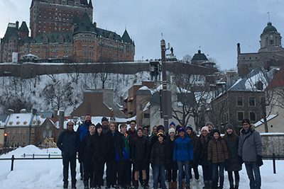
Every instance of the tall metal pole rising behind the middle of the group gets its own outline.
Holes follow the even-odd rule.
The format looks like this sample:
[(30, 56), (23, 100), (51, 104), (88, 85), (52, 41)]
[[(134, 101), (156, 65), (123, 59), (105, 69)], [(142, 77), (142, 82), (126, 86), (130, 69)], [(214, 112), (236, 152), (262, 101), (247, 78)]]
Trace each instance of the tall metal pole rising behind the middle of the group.
[(160, 41), (160, 52), (162, 57), (162, 84), (163, 84), (163, 92), (162, 92), (162, 107), (163, 107), (163, 120), (165, 132), (168, 132), (168, 98), (167, 98), (167, 73), (165, 70), (165, 40)]

